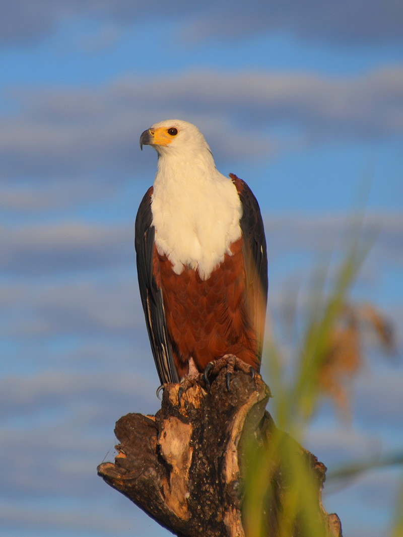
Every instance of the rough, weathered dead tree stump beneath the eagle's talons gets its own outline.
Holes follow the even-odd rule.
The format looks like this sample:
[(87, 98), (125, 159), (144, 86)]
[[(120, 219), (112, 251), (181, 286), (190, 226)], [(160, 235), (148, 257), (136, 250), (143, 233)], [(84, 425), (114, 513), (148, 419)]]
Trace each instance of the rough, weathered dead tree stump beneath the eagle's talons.
[[(235, 372), (228, 393), (225, 371), (208, 393), (198, 384), (189, 388), (180, 406), (178, 388), (167, 385), (155, 416), (132, 413), (119, 419), (118, 455), (114, 464), (99, 465), (98, 474), (179, 536), (247, 537), (242, 525), (247, 458), (242, 446), (250, 445), (250, 438), (256, 446), (270, 442), (276, 430), (265, 411), (270, 391), (260, 375), (251, 379)], [(284, 439), (293, 442), (317, 478), (316, 507), (327, 534), (341, 537), (339, 518), (328, 515), (321, 504), (326, 467), (286, 434)], [(271, 537), (277, 535), (286, 474), (287, 469), (278, 468), (270, 483), (264, 512)], [(298, 520), (291, 535), (304, 535)]]

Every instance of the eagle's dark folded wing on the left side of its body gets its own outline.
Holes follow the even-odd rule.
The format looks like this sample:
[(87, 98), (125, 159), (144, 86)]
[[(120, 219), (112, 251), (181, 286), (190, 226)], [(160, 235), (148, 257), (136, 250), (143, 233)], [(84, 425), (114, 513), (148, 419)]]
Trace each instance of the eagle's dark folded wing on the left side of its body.
[(134, 245), (136, 249), (137, 275), (139, 278), (141, 303), (146, 317), (148, 337), (161, 384), (179, 382), (165, 322), (162, 291), (157, 287), (153, 273), (155, 228), (151, 225), (150, 187), (143, 197), (135, 223)]

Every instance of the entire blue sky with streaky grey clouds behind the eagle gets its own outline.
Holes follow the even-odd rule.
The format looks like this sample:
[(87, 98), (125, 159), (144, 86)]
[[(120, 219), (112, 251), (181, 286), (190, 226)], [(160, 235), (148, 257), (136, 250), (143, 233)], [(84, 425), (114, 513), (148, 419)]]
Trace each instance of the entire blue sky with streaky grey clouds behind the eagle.
[[(219, 170), (251, 186), (276, 323), (287, 289), (339, 257), (365, 205), (378, 238), (352, 300), (401, 333), (403, 7), (0, 5), (0, 535), (167, 535), (96, 475), (113, 458), (114, 422), (158, 408), (133, 248), (156, 155), (139, 136), (163, 119), (194, 122)], [(372, 350), (350, 422), (325, 403), (307, 447), (329, 469), (401, 448), (402, 384), (401, 361)], [(345, 537), (387, 535), (398, 478), (325, 487)]]

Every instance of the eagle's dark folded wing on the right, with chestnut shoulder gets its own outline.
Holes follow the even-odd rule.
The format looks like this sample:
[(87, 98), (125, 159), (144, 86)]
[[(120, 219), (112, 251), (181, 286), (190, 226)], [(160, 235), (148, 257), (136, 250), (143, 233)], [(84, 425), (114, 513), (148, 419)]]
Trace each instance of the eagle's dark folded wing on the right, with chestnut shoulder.
[(253, 316), (258, 342), (258, 358), (262, 357), (264, 322), (267, 307), (268, 275), (267, 247), (259, 204), (249, 186), (234, 175), (233, 180), (242, 204), (240, 222), (243, 245), (242, 253), (246, 272), (247, 304)]

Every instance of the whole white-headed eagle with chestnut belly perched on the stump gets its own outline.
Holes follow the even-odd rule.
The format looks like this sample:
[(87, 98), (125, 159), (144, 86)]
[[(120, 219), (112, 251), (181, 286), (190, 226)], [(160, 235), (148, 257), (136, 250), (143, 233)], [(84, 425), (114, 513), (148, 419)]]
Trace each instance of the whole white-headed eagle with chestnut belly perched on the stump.
[(144, 145), (156, 149), (158, 164), (137, 213), (135, 248), (161, 383), (227, 362), (228, 375), (234, 366), (259, 371), (268, 278), (256, 198), (235, 175), (221, 175), (186, 121), (156, 123), (141, 134)]

